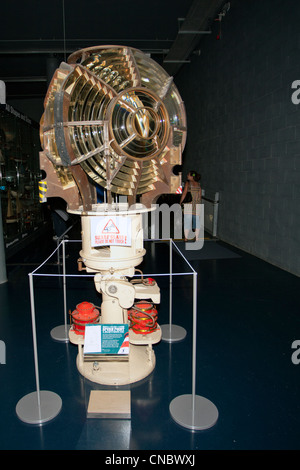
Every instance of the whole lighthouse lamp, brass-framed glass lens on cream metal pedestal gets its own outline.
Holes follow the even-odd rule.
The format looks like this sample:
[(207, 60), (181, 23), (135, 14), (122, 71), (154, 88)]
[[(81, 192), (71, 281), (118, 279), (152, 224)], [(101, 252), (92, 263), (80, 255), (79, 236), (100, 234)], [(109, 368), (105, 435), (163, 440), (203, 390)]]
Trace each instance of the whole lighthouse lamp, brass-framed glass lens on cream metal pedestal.
[[(102, 294), (99, 322), (129, 324), (126, 361), (88, 360), (84, 333), (71, 327), (70, 341), (79, 350), (77, 367), (101, 384), (141, 380), (155, 367), (152, 344), (160, 341), (161, 331), (152, 319), (151, 332), (133, 330), (128, 311), (141, 300), (158, 304), (160, 290), (155, 281), (130, 278), (145, 255), (143, 214), (153, 210), (161, 194), (175, 193), (181, 184), (180, 174), (173, 173), (181, 164), (186, 140), (185, 108), (178, 90), (172, 77), (137, 49), (83, 49), (54, 73), (40, 137), (40, 166), (47, 175), (41, 181), (46, 188), (43, 200), (62, 197), (68, 211), (81, 216), (79, 269), (95, 273), (95, 287)], [(105, 190), (103, 204), (97, 204), (97, 185)], [(116, 195), (127, 202), (116, 202)], [(109, 233), (109, 226), (118, 236)], [(124, 236), (119, 226), (125, 227)], [(143, 321), (148, 315), (144, 312), (147, 309)]]

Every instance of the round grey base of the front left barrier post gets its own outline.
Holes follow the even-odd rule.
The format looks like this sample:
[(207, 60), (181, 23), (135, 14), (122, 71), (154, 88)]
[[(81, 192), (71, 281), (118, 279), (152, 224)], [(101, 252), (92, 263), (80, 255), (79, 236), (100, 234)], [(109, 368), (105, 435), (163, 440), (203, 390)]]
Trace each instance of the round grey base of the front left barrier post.
[(18, 418), (28, 424), (43, 424), (55, 418), (61, 410), (62, 400), (54, 392), (32, 392), (25, 395), (16, 406)]

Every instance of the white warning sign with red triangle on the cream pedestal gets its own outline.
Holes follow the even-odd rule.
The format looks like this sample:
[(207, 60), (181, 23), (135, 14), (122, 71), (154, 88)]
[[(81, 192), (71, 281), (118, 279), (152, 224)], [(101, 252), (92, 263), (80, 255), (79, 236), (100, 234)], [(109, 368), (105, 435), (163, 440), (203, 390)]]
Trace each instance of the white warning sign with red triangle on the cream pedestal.
[(99, 215), (91, 218), (91, 245), (131, 245), (131, 218)]

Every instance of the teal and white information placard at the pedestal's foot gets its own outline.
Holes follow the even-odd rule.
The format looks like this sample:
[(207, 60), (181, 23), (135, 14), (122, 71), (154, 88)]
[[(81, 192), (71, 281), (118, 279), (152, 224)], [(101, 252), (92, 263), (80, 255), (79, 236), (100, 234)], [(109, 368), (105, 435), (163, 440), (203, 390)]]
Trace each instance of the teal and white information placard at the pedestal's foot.
[(129, 354), (129, 331), (126, 324), (98, 324), (85, 326), (83, 354)]

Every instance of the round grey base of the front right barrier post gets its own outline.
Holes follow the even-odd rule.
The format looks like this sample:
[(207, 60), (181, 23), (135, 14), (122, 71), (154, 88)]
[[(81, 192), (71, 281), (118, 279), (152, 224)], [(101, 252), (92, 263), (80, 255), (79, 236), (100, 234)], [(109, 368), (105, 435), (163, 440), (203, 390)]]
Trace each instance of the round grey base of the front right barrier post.
[(191, 430), (211, 428), (219, 417), (216, 406), (199, 395), (180, 395), (171, 401), (169, 410), (176, 423)]

